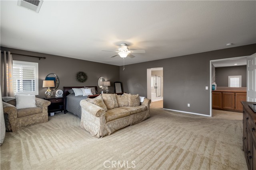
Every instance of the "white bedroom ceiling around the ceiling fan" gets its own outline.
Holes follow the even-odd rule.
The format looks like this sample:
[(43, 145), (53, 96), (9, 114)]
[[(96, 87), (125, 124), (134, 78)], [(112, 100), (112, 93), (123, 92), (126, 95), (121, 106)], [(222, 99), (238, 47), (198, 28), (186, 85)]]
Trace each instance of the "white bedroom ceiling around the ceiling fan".
[[(1, 46), (122, 65), (256, 43), (256, 1), (0, 1)], [(226, 46), (233, 43), (233, 46)]]

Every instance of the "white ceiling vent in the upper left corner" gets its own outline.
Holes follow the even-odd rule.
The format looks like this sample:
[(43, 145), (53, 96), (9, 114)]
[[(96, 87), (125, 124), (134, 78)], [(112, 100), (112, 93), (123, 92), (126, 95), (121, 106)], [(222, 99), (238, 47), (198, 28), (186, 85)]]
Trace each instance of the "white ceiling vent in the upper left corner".
[(18, 6), (22, 6), (37, 13), (41, 8), (42, 3), (42, 0), (18, 0)]

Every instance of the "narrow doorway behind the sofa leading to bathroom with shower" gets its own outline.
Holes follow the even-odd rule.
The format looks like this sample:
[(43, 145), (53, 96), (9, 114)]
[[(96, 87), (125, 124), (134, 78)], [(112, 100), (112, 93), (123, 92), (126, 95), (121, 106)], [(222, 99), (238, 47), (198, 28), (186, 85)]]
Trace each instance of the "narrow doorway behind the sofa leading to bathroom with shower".
[(153, 107), (163, 108), (163, 67), (147, 69), (147, 98)]

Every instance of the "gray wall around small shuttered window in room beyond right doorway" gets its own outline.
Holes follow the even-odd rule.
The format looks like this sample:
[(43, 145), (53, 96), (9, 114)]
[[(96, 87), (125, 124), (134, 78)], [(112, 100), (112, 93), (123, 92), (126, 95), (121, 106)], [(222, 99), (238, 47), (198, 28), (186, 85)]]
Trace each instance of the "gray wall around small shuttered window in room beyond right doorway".
[(246, 66), (216, 67), (217, 87), (228, 87), (228, 76), (242, 76), (242, 87), (246, 87)]

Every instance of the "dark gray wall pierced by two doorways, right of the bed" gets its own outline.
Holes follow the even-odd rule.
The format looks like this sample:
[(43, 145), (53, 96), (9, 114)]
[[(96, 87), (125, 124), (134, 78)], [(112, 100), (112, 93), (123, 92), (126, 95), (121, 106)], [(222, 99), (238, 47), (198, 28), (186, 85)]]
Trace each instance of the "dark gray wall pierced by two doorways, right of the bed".
[[(163, 67), (164, 108), (210, 115), (210, 60), (248, 56), (256, 44), (130, 64), (122, 70), (124, 92), (147, 95), (147, 68)], [(145, 54), (146, 55), (146, 54)], [(187, 104), (190, 107), (187, 107)]]

